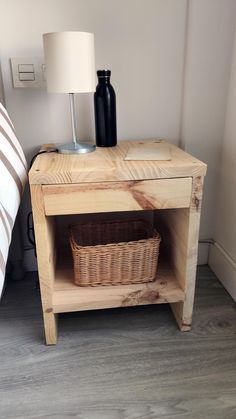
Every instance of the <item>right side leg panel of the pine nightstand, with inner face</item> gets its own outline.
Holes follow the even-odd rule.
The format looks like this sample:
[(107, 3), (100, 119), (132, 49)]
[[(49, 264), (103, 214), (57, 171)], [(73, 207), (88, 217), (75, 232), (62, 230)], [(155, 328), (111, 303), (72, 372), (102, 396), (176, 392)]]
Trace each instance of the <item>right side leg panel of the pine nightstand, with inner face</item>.
[(178, 282), (186, 293), (183, 303), (171, 305), (182, 331), (190, 330), (192, 324), (202, 190), (203, 178), (193, 178), (190, 208), (163, 211), (161, 215), (166, 228), (167, 252)]

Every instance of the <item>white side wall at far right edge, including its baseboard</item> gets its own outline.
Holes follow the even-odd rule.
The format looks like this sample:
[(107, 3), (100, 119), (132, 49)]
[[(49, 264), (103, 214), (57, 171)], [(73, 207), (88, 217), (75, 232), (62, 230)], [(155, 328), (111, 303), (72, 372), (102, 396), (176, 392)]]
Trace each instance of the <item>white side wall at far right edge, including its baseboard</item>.
[(236, 300), (236, 33), (215, 217), (215, 240), (210, 265)]

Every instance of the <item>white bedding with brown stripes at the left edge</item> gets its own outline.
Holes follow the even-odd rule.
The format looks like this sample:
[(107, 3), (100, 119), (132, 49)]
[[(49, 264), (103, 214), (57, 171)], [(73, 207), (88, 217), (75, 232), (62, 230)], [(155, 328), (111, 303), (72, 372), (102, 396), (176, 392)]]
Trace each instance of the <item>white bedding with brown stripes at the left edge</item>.
[(27, 179), (27, 163), (9, 115), (0, 103), (0, 297), (12, 228)]

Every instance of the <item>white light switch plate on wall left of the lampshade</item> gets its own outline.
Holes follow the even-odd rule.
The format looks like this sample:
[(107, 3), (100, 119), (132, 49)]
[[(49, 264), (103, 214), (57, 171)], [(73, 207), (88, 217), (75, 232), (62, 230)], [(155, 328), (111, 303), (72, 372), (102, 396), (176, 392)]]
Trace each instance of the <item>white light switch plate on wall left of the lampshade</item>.
[(11, 58), (11, 69), (15, 88), (46, 87), (43, 57), (13, 57)]

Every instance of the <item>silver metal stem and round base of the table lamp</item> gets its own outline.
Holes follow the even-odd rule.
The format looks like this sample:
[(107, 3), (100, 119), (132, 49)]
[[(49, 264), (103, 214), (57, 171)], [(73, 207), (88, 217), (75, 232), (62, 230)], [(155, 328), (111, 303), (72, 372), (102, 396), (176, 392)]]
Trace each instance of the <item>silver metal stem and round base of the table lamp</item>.
[(59, 144), (58, 152), (61, 154), (85, 154), (95, 151), (95, 144), (80, 144), (76, 139), (76, 119), (75, 119), (75, 102), (74, 93), (69, 93), (70, 98), (70, 112), (71, 112), (71, 126), (73, 142), (69, 144)]

